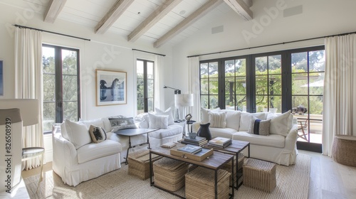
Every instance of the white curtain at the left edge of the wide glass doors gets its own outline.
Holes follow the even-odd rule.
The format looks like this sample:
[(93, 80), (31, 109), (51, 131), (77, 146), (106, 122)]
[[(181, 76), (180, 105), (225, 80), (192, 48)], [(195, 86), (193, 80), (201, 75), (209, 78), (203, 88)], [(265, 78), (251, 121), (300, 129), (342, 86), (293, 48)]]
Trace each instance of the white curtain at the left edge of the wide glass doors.
[(192, 113), (192, 120), (200, 121), (200, 68), (198, 56), (188, 58), (188, 68), (189, 93), (194, 95), (194, 107), (189, 107), (189, 112)]

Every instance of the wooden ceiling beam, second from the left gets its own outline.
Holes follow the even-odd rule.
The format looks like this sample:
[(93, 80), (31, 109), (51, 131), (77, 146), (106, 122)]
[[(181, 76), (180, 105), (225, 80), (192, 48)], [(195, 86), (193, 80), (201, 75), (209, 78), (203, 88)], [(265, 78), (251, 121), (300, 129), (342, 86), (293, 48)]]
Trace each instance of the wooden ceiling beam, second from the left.
[(107, 14), (95, 26), (95, 33), (105, 33), (117, 21), (134, 0), (117, 0)]

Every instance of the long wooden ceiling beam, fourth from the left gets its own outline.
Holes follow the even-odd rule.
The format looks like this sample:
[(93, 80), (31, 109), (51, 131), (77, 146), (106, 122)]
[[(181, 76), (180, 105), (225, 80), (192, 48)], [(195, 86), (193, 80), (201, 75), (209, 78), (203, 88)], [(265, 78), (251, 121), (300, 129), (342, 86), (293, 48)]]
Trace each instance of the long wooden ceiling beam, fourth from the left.
[(174, 28), (165, 33), (164, 36), (160, 37), (157, 41), (155, 41), (153, 46), (155, 48), (159, 48), (164, 43), (167, 43), (167, 41), (172, 39), (174, 36), (177, 36), (179, 33), (184, 31), (184, 29), (188, 28), (188, 26), (191, 26), (193, 23), (198, 21), (199, 18), (209, 13), (209, 11), (216, 8), (216, 6), (219, 6), (222, 2), (222, 0), (210, 0), (206, 2), (206, 4), (197, 9), (197, 11), (194, 11), (194, 13), (187, 16), (187, 18), (184, 18), (184, 20), (180, 22), (177, 26), (174, 26)]

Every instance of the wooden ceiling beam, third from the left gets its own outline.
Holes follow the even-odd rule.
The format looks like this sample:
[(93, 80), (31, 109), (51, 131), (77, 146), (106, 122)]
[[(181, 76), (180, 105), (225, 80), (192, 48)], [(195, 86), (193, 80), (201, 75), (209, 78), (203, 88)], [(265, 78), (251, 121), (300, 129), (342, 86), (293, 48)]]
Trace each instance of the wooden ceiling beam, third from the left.
[(159, 6), (150, 16), (148, 16), (145, 21), (135, 28), (129, 36), (127, 36), (127, 41), (136, 41), (137, 38), (140, 38), (143, 34), (145, 34), (152, 26), (161, 20), (164, 16), (166, 16), (175, 6), (177, 6), (182, 0), (167, 0), (162, 6)]

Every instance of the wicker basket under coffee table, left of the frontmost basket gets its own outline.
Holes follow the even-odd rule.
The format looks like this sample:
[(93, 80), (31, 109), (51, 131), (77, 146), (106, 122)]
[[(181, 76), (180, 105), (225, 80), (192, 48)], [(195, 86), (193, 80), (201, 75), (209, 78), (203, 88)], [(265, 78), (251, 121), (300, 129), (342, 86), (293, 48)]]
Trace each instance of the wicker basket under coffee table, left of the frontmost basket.
[(171, 158), (161, 158), (153, 163), (155, 185), (169, 191), (179, 190), (184, 186), (184, 175), (188, 164)]

